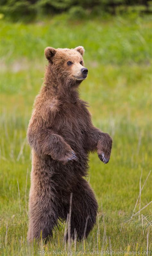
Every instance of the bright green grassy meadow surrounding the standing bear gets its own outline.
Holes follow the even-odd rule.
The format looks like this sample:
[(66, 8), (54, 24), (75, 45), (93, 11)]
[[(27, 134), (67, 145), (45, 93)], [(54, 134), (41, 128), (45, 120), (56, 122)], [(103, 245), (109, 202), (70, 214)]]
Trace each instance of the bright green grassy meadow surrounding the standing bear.
[[(0, 30), (2, 255), (68, 250), (63, 244), (64, 224), (46, 245), (27, 244), (31, 156), (26, 130), (47, 63), (44, 48), (79, 45), (86, 50), (89, 70), (80, 85), (81, 98), (90, 104), (94, 125), (108, 132), (114, 144), (108, 165), (97, 154), (90, 155), (87, 179), (99, 204), (97, 225), (86, 241), (72, 242), (71, 250), (73, 255), (75, 251), (150, 251), (151, 204), (145, 207), (151, 202), (150, 17), (70, 22), (62, 15), (34, 24), (1, 21)], [(145, 208), (121, 224), (131, 218), (143, 185), (134, 213)]]

